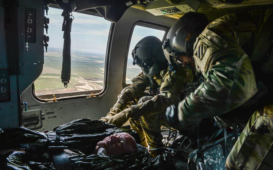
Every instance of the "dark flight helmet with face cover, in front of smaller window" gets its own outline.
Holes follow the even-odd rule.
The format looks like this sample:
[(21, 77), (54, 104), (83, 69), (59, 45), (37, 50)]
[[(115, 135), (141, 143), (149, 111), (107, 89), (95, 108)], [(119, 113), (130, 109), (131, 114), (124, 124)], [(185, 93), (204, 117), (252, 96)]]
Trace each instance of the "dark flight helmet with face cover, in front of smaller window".
[(146, 77), (153, 77), (168, 67), (162, 42), (154, 36), (141, 39), (132, 51), (132, 57), (133, 65), (140, 66)]

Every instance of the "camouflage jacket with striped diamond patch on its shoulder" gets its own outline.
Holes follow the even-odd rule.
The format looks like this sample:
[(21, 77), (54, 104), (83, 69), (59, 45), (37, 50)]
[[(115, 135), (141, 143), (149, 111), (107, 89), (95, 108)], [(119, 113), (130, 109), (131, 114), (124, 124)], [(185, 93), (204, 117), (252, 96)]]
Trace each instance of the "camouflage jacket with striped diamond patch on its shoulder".
[(214, 117), (220, 127), (227, 126), (219, 116), (244, 104), (257, 92), (250, 60), (238, 44), (237, 22), (235, 14), (223, 16), (196, 38), (193, 57), (205, 81), (179, 103), (182, 125)]

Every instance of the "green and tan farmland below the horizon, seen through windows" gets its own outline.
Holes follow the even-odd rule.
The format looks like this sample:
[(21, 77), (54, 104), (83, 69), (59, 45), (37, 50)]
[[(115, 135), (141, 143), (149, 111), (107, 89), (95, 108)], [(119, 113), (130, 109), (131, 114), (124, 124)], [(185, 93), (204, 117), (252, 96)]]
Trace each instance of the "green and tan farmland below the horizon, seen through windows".
[[(131, 64), (131, 59), (129, 63)], [(44, 69), (34, 82), (35, 94), (46, 95), (102, 89), (104, 86), (105, 56), (84, 51), (71, 51), (71, 79), (67, 88), (61, 82), (62, 49), (51, 47), (44, 55)], [(129, 66), (126, 83), (140, 72)]]

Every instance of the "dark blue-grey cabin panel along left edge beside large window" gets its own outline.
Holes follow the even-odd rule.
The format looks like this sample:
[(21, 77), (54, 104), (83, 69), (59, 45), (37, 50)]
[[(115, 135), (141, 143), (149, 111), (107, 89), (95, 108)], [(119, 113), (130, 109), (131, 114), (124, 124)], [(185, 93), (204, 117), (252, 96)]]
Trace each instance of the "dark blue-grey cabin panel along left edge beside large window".
[(0, 0), (0, 13), (0, 128), (18, 127), (22, 92), (43, 69), (44, 2)]

